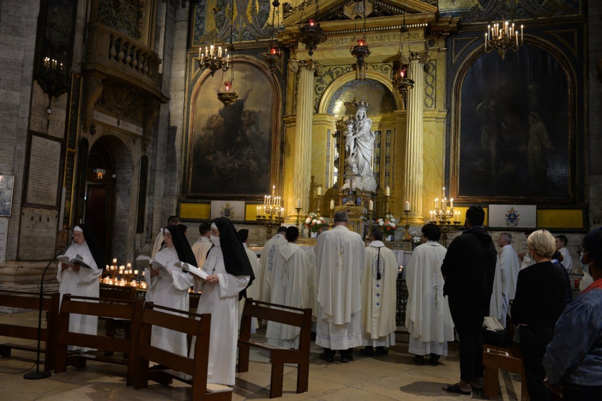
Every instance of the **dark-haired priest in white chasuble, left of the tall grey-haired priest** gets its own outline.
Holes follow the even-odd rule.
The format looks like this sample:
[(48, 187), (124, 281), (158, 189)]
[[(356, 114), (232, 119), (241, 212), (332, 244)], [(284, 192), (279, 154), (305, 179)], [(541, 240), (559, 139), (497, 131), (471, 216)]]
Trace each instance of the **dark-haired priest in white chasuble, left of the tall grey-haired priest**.
[[(297, 227), (287, 228), (287, 243), (278, 248), (276, 262), (272, 270), (272, 303), (310, 308), (309, 280), (311, 263), (305, 250), (296, 244), (299, 237)], [(268, 322), (265, 338), (269, 344), (285, 348), (299, 349), (300, 327)]]

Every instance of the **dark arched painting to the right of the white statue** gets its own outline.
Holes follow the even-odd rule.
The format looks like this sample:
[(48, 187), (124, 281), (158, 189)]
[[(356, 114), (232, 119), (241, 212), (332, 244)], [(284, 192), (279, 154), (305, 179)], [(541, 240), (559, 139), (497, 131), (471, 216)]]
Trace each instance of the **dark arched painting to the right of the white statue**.
[(536, 43), (467, 59), (452, 95), (456, 199), (571, 201), (575, 82), (563, 55)]

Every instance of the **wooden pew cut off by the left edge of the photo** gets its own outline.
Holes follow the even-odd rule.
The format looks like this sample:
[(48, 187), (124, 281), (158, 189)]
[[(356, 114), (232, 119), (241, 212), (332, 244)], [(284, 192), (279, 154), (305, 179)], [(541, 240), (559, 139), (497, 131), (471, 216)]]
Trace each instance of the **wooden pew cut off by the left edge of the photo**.
[[(56, 325), (58, 317), (59, 294), (44, 294), (42, 300), (42, 310), (46, 311), (46, 328), (40, 332), (40, 341), (45, 341), (45, 346), (40, 347), (40, 352), (46, 354), (44, 358), (44, 370), (50, 371), (54, 368), (55, 347), (56, 347)], [(10, 308), (34, 309), (40, 308), (40, 294), (28, 293), (22, 291), (0, 291), (0, 306)], [(27, 340), (38, 339), (37, 326), (19, 326), (0, 324), (0, 335), (5, 337), (24, 338)], [(31, 352), (37, 352), (37, 346), (23, 344), (0, 344), (0, 355), (10, 356), (11, 350), (19, 349)], [(50, 352), (46, 352), (49, 350)]]

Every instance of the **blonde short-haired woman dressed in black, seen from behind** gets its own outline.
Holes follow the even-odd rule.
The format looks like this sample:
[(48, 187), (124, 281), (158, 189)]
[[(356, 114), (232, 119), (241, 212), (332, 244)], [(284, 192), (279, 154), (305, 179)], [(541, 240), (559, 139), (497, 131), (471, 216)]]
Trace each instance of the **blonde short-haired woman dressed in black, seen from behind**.
[(554, 236), (547, 230), (527, 238), (527, 250), (535, 264), (518, 273), (517, 292), (512, 302), (512, 322), (521, 338), (527, 390), (531, 400), (552, 400), (544, 385), (545, 347), (554, 335), (554, 325), (565, 308), (566, 276), (552, 263)]

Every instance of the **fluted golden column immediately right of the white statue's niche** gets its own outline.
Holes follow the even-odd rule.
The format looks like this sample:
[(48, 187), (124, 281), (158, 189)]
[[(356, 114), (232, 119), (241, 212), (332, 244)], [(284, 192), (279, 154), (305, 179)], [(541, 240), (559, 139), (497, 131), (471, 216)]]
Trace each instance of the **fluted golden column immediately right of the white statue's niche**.
[(408, 78), (414, 80), (414, 89), (408, 90), (406, 111), (406, 154), (404, 173), (404, 199), (410, 202), (409, 223), (424, 223), (422, 210), (423, 190), (423, 111), (424, 111), (424, 64), (429, 61), (426, 53), (412, 53), (409, 57)]

